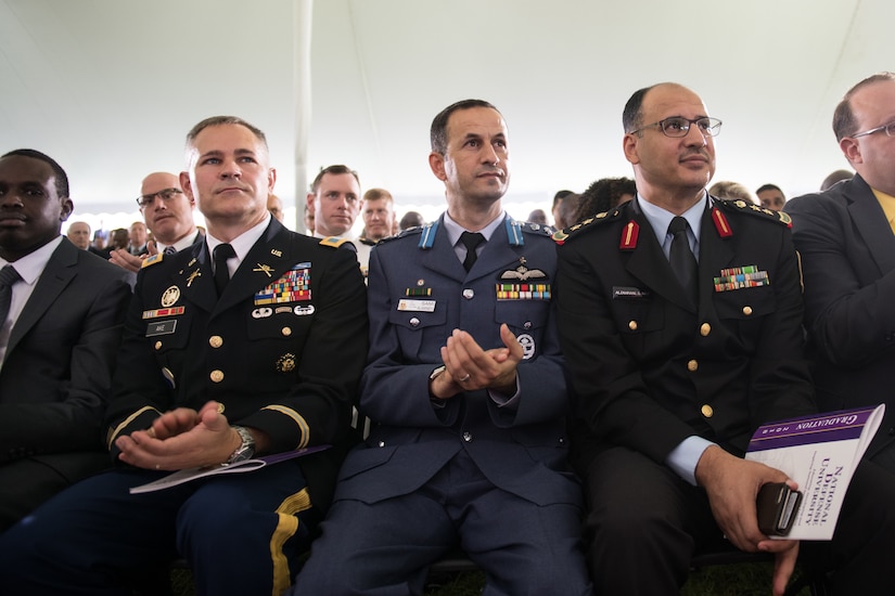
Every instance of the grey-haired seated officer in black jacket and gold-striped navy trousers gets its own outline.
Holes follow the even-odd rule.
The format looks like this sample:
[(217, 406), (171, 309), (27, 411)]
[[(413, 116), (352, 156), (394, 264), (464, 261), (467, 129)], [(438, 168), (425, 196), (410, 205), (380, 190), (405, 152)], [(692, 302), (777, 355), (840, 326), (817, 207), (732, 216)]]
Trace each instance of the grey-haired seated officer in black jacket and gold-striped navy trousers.
[[(138, 275), (106, 415), (119, 468), (0, 537), (13, 593), (123, 589), (129, 573), (182, 556), (200, 593), (280, 594), (329, 504), (367, 357), (355, 255), (272, 219), (276, 171), (254, 126), (203, 120), (188, 158), (180, 183), (207, 234)], [(323, 445), (334, 446), (128, 494), (170, 470)]]

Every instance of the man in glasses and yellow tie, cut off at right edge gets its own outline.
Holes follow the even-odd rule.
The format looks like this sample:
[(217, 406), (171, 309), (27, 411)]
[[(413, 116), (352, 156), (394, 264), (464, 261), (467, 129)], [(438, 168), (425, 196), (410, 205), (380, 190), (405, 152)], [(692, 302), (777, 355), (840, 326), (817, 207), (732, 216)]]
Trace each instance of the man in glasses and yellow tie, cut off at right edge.
[(895, 73), (853, 87), (833, 132), (854, 178), (787, 203), (805, 277), (805, 327), (821, 409), (885, 401), (867, 454), (895, 472)]

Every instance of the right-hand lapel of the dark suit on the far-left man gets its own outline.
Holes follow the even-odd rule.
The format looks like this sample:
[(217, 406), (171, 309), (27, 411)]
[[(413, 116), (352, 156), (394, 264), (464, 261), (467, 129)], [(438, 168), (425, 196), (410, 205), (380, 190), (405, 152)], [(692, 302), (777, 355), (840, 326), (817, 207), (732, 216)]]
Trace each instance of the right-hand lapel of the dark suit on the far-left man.
[(40, 321), (47, 309), (55, 302), (60, 294), (77, 275), (78, 250), (75, 245), (63, 238), (60, 245), (53, 250), (50, 260), (47, 261), (47, 267), (38, 277), (31, 296), (22, 313), (15, 322), (15, 325), (10, 333), (10, 340), (7, 345), (7, 353), (12, 352), (16, 345), (25, 337), (35, 323)]

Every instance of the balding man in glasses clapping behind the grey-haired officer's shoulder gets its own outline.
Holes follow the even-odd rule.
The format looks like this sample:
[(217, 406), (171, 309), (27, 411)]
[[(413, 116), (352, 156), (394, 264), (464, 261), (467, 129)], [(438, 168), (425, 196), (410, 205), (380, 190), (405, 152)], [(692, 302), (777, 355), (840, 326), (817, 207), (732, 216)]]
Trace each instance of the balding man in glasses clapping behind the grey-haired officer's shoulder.
[(143, 213), (146, 228), (154, 242), (148, 245), (148, 254), (135, 256), (127, 250), (113, 250), (110, 260), (128, 271), (137, 272), (148, 256), (172, 254), (202, 242), (193, 220), (195, 200), (180, 189), (180, 179), (169, 172), (153, 172), (143, 179), (137, 205)]

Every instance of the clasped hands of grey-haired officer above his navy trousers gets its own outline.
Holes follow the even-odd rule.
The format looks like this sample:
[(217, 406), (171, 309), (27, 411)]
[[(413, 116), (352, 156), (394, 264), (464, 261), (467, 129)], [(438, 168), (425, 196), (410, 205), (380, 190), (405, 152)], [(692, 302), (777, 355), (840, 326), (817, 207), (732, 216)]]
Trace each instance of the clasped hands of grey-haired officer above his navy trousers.
[(226, 462), (242, 440), (222, 411), (221, 404), (209, 401), (199, 412), (190, 407), (166, 412), (146, 430), (118, 437), (118, 458), (139, 468), (157, 470)]

